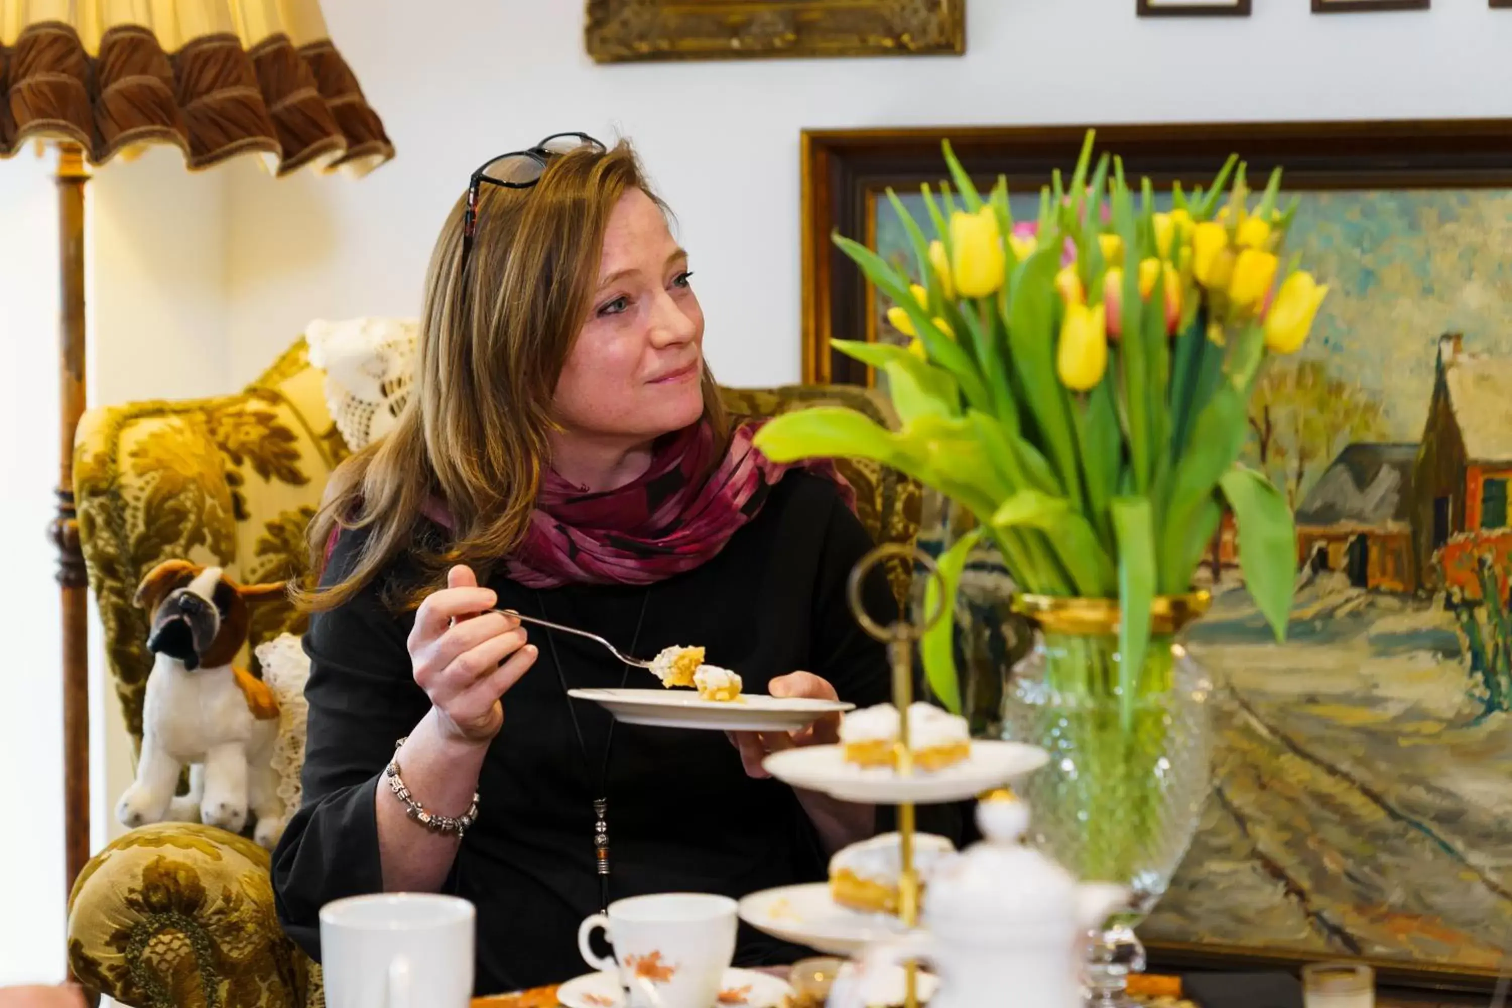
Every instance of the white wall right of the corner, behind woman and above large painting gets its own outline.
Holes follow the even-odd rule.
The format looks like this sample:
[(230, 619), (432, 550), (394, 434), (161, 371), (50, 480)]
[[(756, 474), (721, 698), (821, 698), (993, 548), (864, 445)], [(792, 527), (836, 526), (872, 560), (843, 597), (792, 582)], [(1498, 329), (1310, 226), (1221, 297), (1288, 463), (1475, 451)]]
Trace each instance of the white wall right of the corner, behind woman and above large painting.
[(715, 373), (756, 385), (800, 373), (801, 127), (1512, 113), (1512, 12), (1486, 0), (1334, 17), (1256, 0), (1247, 20), (1137, 20), (1134, 0), (972, 0), (963, 57), (635, 66), (588, 60), (581, 0), (322, 6), (399, 156), (351, 184), (233, 177), (237, 379), (310, 317), (416, 313), (469, 172), (556, 130), (637, 141), (682, 221)]

